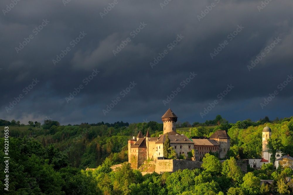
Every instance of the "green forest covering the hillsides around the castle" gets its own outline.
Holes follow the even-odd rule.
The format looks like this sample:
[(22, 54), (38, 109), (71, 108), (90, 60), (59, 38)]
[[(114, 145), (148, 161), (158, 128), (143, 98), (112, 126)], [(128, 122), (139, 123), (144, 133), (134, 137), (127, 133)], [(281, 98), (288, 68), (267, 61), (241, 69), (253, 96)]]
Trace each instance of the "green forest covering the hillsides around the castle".
[[(184, 124), (183, 124), (184, 123)], [(293, 117), (253, 122), (250, 119), (228, 123), (220, 115), (204, 124), (177, 122), (177, 132), (187, 137), (209, 137), (217, 130), (226, 130), (231, 137), (227, 160), (206, 154), (201, 169), (179, 170), (174, 173), (142, 175), (128, 163), (127, 141), (139, 130), (151, 137), (163, 132), (163, 124), (116, 122), (115, 125), (82, 123), (63, 126), (57, 121), (0, 120), (0, 157), (4, 159), (4, 126), (9, 127), (9, 173), (0, 167), (1, 186), (9, 175), (9, 191), (0, 194), (292, 194), (292, 167), (272, 164), (261, 169), (248, 166), (244, 173), (236, 165), (239, 159), (261, 158), (262, 130), (272, 130), (272, 152), (282, 151), (293, 156)], [(207, 124), (208, 123), (208, 124)], [(181, 131), (189, 126), (189, 131)], [(182, 127), (182, 128), (180, 128)], [(115, 172), (110, 168), (122, 163)], [(95, 170), (85, 170), (96, 168)], [(260, 185), (260, 180), (273, 180)]]

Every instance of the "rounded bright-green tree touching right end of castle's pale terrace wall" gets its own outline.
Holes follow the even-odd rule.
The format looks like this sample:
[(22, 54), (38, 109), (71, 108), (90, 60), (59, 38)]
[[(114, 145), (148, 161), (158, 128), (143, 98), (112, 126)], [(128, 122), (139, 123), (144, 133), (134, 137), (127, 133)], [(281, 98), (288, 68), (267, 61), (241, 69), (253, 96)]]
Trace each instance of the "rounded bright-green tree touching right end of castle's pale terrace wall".
[(206, 153), (205, 157), (202, 158), (202, 161), (202, 168), (213, 175), (219, 175), (222, 170), (222, 165), (217, 157)]

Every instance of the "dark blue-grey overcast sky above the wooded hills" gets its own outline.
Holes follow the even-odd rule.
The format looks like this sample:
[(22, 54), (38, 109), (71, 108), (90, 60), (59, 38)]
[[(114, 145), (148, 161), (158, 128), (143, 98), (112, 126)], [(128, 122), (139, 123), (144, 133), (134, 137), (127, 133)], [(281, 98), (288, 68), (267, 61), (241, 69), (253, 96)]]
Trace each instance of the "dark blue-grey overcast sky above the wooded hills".
[(161, 122), (170, 100), (191, 124), (292, 115), (293, 1), (14, 4), (0, 2), (1, 119)]

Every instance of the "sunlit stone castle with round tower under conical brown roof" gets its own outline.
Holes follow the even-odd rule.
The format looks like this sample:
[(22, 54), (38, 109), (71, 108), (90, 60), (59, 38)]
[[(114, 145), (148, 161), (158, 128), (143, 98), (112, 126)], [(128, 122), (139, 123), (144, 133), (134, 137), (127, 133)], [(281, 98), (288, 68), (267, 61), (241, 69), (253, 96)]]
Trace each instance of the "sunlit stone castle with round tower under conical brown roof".
[(192, 137), (189, 139), (184, 134), (176, 132), (177, 116), (169, 108), (162, 116), (163, 121), (163, 135), (159, 137), (151, 137), (149, 131), (146, 136), (139, 131), (137, 137), (128, 140), (128, 162), (131, 163), (132, 168), (137, 169), (144, 160), (163, 160), (164, 152), (163, 145), (166, 141), (166, 135), (170, 140), (170, 146), (174, 148), (178, 156), (188, 156), (188, 152), (194, 149), (196, 160), (202, 159), (206, 153), (218, 152), (219, 158), (224, 158), (230, 150), (230, 137), (226, 131), (217, 130), (209, 138), (207, 137)]

